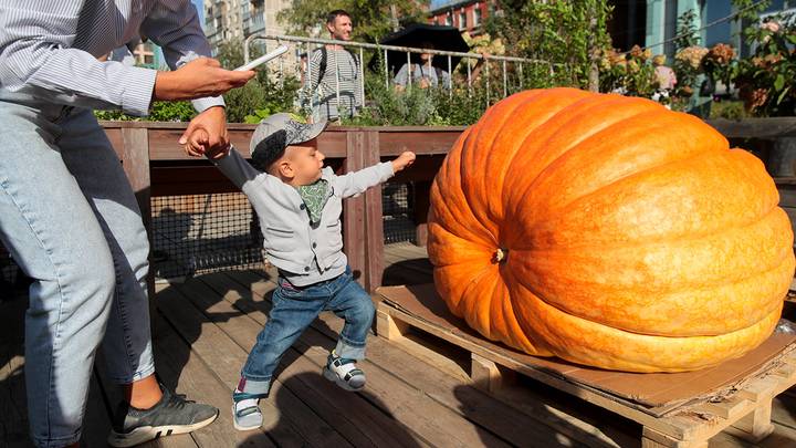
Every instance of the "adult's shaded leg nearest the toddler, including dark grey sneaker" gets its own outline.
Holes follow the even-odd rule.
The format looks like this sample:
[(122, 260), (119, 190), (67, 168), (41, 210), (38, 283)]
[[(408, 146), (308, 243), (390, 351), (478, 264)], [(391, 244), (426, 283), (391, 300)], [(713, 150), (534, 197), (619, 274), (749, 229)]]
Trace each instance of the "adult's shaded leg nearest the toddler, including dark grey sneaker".
[(108, 375), (123, 386), (127, 400), (117, 410), (108, 444), (133, 446), (207, 426), (218, 409), (161, 389), (155, 376), (146, 285), (149, 242), (118, 156), (87, 110), (75, 110), (64, 119), (64, 129), (59, 140), (64, 163), (88, 200), (113, 257), (116, 288), (103, 351)]

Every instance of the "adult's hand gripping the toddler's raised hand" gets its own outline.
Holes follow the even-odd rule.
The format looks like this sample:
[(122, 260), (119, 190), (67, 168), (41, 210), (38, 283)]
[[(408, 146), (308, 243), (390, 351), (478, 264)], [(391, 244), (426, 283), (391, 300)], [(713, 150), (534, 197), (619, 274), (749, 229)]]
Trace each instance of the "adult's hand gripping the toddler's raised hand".
[(227, 113), (221, 106), (206, 110), (191, 119), (179, 139), (186, 154), (219, 158), (229, 152)]

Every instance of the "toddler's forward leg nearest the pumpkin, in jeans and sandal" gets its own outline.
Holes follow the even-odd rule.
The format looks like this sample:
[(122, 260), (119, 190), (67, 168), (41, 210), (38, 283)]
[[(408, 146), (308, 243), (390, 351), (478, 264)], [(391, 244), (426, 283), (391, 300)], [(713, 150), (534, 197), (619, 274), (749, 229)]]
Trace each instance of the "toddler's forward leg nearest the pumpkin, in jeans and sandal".
[(350, 268), (332, 285), (334, 295), (327, 310), (345, 320), (337, 346), (329, 354), (323, 374), (346, 390), (365, 387), (365, 373), (357, 368), (356, 361), (365, 358), (365, 343), (373, 324), (375, 308), (370, 294), (357, 283)]

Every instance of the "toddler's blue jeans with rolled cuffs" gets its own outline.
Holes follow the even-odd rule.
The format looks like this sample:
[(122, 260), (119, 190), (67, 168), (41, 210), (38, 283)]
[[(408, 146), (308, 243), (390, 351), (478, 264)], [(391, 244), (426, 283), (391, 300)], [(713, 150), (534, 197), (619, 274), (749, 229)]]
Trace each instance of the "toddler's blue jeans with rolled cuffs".
[(335, 348), (337, 356), (365, 357), (365, 340), (375, 309), (370, 295), (354, 280), (350, 268), (335, 279), (303, 288), (280, 277), (271, 301), (269, 320), (241, 372), (241, 392), (266, 395), (280, 358), (322, 311), (333, 311), (345, 320)]

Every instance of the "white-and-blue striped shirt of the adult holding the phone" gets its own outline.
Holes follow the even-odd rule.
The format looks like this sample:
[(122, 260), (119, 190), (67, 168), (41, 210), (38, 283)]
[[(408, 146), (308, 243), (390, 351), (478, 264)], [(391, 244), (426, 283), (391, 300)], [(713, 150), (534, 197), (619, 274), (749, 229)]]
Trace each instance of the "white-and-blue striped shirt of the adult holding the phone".
[[(146, 115), (157, 72), (97, 60), (139, 35), (163, 48), (171, 70), (211, 55), (190, 0), (2, 0), (0, 88)], [(223, 100), (193, 101), (199, 112), (214, 105)]]

